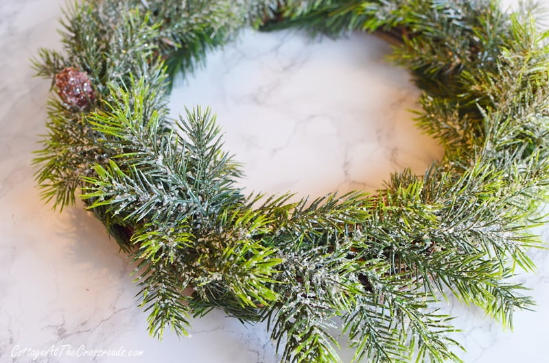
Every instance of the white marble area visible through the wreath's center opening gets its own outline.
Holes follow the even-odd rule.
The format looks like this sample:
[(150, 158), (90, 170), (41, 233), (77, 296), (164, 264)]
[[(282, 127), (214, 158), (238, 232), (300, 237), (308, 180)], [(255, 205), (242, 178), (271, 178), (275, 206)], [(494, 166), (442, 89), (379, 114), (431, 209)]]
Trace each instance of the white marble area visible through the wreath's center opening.
[(443, 149), (417, 129), (420, 91), (368, 34), (311, 40), (244, 32), (176, 81), (172, 117), (209, 106), (224, 149), (242, 164), (246, 193), (296, 197), (375, 191), (390, 173), (425, 173)]

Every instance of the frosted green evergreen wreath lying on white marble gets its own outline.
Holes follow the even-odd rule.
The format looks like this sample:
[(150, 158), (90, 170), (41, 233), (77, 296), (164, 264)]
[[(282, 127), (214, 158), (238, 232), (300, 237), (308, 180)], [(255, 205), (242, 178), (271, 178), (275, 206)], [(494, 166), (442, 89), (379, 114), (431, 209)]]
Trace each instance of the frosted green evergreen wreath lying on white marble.
[[(63, 208), (75, 193), (135, 270), (150, 334), (186, 335), (213, 308), (268, 321), (281, 360), (460, 361), (445, 292), (504, 326), (533, 304), (509, 277), (533, 271), (527, 230), (549, 180), (549, 49), (526, 10), (481, 0), (102, 0), (66, 11), (36, 179)], [(171, 79), (242, 27), (303, 27), (397, 40), (423, 90), (418, 122), (445, 155), (376, 194), (244, 195), (210, 110), (167, 119)], [(183, 290), (192, 287), (192, 295)]]

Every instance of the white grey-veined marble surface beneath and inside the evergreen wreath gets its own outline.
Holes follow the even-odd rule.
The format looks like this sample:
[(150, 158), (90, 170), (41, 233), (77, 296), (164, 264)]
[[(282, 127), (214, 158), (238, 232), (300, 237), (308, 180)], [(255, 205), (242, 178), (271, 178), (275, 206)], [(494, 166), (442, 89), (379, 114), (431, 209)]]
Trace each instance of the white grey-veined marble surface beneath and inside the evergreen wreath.
[[(220, 311), (192, 321), (191, 338), (149, 338), (130, 261), (102, 225), (82, 205), (59, 213), (40, 201), (30, 161), (50, 83), (32, 77), (29, 60), (38, 47), (60, 47), (62, 3), (0, 0), (0, 362), (277, 362), (264, 325)], [(365, 34), (312, 42), (245, 32), (180, 82), (172, 115), (211, 106), (248, 191), (374, 190), (391, 171), (422, 173), (442, 154), (414, 127), (419, 92), (384, 61), (389, 51)], [(549, 225), (537, 232), (549, 240)], [(513, 332), (452, 298), (441, 304), (464, 330), (455, 338), (465, 362), (549, 361), (548, 253), (531, 254), (539, 271), (517, 280), (533, 289), (537, 312), (518, 312)], [(90, 357), (97, 349), (125, 357)]]

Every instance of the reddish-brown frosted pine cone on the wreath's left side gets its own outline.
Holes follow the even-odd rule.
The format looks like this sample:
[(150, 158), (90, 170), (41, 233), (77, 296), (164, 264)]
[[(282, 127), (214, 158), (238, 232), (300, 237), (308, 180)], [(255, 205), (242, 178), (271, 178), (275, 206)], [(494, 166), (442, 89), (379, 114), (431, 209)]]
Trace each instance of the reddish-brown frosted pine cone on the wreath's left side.
[(95, 99), (95, 92), (87, 73), (72, 67), (67, 67), (56, 75), (56, 87), (63, 102), (80, 111), (88, 108)]

